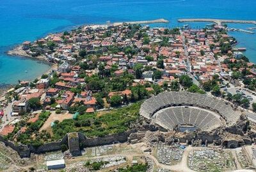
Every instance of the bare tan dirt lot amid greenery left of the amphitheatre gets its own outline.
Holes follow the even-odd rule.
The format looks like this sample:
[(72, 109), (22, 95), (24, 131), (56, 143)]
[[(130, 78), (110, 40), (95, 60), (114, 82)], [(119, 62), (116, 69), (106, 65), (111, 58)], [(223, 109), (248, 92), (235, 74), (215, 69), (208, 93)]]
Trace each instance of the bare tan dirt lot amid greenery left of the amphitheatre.
[(68, 113), (68, 111), (64, 111), (60, 114), (55, 113), (55, 111), (51, 111), (50, 117), (45, 121), (44, 125), (40, 128), (40, 132), (42, 130), (46, 130), (47, 132), (52, 134), (51, 130), (51, 123), (54, 122), (55, 120), (59, 120), (60, 122), (65, 120), (65, 119), (70, 119), (72, 118), (73, 115)]

